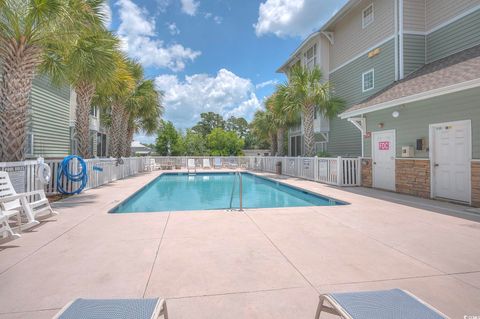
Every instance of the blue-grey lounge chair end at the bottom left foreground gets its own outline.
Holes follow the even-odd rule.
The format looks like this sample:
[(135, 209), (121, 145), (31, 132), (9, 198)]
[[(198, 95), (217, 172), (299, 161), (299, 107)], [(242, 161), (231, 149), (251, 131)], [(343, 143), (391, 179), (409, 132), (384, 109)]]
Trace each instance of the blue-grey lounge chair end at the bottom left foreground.
[(168, 319), (164, 299), (76, 299), (53, 319)]

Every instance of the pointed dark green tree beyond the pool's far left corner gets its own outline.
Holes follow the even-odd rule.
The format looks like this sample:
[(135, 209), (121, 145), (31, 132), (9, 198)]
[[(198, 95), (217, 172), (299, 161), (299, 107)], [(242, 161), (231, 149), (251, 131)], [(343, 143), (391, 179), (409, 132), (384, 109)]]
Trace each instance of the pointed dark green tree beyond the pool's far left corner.
[(161, 121), (155, 149), (161, 156), (184, 155), (182, 136), (172, 122)]

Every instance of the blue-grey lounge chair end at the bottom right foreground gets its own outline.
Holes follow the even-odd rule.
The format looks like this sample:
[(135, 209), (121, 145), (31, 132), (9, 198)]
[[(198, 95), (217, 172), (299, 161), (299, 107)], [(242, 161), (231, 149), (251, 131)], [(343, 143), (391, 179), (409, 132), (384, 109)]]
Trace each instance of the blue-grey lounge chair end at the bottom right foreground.
[(319, 319), (322, 312), (344, 319), (448, 318), (425, 301), (401, 289), (321, 295), (315, 319)]

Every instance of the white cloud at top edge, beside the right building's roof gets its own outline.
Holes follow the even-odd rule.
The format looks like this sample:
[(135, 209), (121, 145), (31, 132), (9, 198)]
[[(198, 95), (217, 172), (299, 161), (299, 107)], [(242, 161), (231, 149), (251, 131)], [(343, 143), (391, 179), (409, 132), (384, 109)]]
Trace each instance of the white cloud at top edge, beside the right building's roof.
[(345, 0), (266, 0), (260, 4), (257, 36), (273, 33), (278, 37), (305, 37), (318, 29)]

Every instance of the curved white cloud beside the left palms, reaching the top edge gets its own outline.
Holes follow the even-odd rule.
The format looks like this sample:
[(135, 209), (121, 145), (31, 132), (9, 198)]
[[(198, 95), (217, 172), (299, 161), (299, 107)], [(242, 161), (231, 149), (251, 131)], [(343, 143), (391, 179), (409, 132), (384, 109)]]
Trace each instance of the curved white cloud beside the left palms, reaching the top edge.
[(155, 19), (131, 0), (118, 0), (120, 26), (118, 36), (122, 49), (146, 67), (169, 68), (181, 71), (187, 62), (194, 61), (201, 52), (181, 44), (166, 46), (155, 34)]

